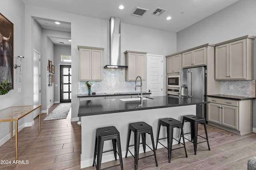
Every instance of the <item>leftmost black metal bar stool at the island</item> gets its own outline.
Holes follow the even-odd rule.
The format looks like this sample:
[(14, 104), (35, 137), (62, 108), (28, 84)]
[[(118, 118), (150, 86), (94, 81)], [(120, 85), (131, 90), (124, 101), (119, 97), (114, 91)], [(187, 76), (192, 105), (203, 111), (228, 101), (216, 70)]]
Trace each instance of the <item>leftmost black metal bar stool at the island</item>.
[[(103, 145), (104, 141), (112, 140), (113, 150), (107, 150), (104, 152), (114, 151), (115, 160), (116, 153), (118, 153), (120, 164), (115, 166), (121, 166), (121, 170), (124, 169), (123, 161), (122, 161), (122, 150), (121, 150), (121, 143), (120, 143), (120, 134), (119, 131), (114, 126), (110, 127), (103, 127), (96, 130), (96, 141), (95, 141), (95, 148), (94, 148), (94, 160), (92, 166), (96, 164), (96, 155), (97, 155), (97, 164), (96, 169), (100, 170), (101, 160), (102, 160), (102, 153), (103, 152)], [(118, 152), (116, 151), (116, 145), (118, 148)], [(112, 166), (114, 167), (114, 166)], [(110, 168), (110, 167), (109, 167)], [(106, 168), (105, 168), (106, 169)]]

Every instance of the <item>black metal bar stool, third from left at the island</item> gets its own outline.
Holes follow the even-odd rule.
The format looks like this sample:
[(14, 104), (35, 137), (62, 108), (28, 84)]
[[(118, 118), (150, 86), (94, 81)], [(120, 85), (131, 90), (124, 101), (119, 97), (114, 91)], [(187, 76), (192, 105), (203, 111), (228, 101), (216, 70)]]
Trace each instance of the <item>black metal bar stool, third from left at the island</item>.
[[(165, 126), (167, 128), (167, 137), (159, 139), (159, 133), (160, 133), (161, 125)], [(183, 139), (183, 143), (182, 143), (183, 147), (179, 147), (179, 148), (176, 148), (176, 149), (184, 148), (185, 149), (185, 153), (186, 153), (186, 157), (188, 157), (188, 154), (187, 154), (187, 151), (186, 151), (186, 146), (185, 146), (185, 141), (184, 141), (183, 128), (182, 128), (181, 121), (178, 121), (178, 120), (173, 119), (173, 118), (159, 119), (158, 120), (158, 131), (157, 131), (156, 149), (157, 149), (157, 144), (160, 143), (159, 140), (167, 139), (167, 148), (162, 143), (160, 143), (160, 144), (163, 147), (165, 147), (166, 149), (168, 149), (169, 163), (171, 162), (172, 150), (175, 150), (175, 149), (172, 149), (172, 139), (174, 139), (173, 138), (173, 128), (174, 127), (177, 127), (177, 128), (181, 129), (181, 134), (182, 134), (182, 139)], [(174, 139), (174, 140), (176, 140), (176, 139)], [(179, 142), (179, 144), (180, 144), (180, 141), (178, 141), (178, 140), (176, 140), (176, 141)]]

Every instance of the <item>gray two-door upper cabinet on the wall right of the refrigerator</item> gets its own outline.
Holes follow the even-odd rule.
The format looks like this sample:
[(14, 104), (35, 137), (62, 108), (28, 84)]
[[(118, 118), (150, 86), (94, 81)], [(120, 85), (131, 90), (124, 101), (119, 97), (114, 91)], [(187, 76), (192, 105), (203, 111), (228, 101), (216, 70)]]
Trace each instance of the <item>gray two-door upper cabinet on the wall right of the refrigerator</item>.
[(253, 80), (253, 39), (247, 35), (215, 47), (215, 80)]

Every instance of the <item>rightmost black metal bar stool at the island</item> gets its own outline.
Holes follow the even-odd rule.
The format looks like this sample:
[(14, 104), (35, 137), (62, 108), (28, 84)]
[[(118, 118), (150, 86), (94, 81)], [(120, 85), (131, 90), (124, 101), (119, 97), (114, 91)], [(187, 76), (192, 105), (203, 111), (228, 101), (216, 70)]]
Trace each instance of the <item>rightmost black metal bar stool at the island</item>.
[[(194, 143), (194, 152), (195, 152), (195, 154), (196, 154), (198, 143), (207, 142), (208, 149), (211, 150), (210, 145), (209, 145), (208, 135), (207, 135), (205, 118), (200, 117), (200, 116), (196, 116), (196, 115), (186, 115), (186, 116), (183, 116), (182, 125), (184, 125), (184, 122), (190, 122), (190, 132), (189, 133), (191, 133), (191, 140), (189, 140), (189, 139), (187, 139), (187, 140)], [(198, 124), (199, 123), (204, 124), (204, 131), (205, 131), (206, 138), (198, 135)], [(189, 134), (189, 133), (184, 133), (184, 135)], [(197, 136), (200, 136), (200, 137), (206, 139), (206, 141), (197, 142)], [(181, 137), (181, 134), (180, 134), (180, 137)], [(180, 141), (179, 141), (179, 143), (180, 143)]]

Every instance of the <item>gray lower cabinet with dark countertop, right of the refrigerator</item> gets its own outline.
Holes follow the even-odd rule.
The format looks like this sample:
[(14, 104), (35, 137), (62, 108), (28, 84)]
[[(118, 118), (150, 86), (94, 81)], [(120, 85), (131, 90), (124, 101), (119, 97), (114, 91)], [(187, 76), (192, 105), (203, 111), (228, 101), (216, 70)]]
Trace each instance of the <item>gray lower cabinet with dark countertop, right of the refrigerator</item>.
[(252, 132), (252, 100), (208, 98), (208, 124), (244, 135)]

